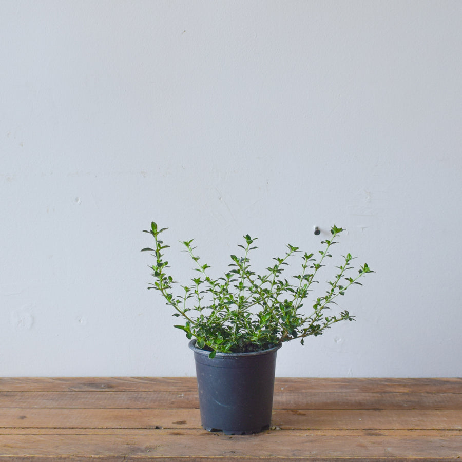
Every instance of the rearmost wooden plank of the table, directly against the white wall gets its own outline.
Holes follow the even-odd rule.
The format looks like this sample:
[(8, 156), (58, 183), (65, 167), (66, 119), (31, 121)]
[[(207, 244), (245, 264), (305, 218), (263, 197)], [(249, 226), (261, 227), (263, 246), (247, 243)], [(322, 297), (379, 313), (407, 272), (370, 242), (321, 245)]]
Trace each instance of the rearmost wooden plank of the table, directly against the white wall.
[[(462, 393), (462, 378), (276, 377), (276, 390), (351, 393)], [(0, 391), (194, 391), (196, 377), (0, 377)]]

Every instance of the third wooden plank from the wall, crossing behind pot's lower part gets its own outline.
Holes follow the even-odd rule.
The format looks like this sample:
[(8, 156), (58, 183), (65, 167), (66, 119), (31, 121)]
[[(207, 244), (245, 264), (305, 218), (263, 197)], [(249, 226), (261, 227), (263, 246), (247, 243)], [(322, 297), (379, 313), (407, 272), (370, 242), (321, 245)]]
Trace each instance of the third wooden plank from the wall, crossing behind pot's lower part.
[[(0, 409), (3, 428), (200, 428), (195, 409)], [(275, 410), (283, 429), (455, 429), (462, 411)]]

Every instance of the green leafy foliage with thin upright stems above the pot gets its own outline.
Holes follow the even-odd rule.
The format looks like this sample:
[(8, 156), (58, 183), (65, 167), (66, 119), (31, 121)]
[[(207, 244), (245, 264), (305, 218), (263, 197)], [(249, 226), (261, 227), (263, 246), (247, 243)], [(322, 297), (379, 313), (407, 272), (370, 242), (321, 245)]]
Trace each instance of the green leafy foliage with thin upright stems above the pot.
[[(336, 266), (336, 275), (328, 281), (327, 290), (314, 300), (309, 314), (303, 305), (317, 282), (318, 271), (332, 258), (331, 247), (343, 231), (331, 228), (331, 239), (322, 241), (324, 248), (315, 254), (301, 253), (298, 247), (287, 244), (282, 257), (274, 258), (274, 263), (266, 268), (263, 275), (252, 271), (249, 253), (256, 249), (255, 241), (248, 234), (245, 243), (239, 245), (243, 256), (231, 255), (232, 263), (228, 271), (217, 279), (208, 276), (208, 264), (199, 263), (192, 240), (182, 242), (185, 251), (195, 262), (197, 277), (188, 285), (181, 285), (182, 293), (174, 293), (176, 281), (168, 274), (168, 261), (164, 259), (165, 245), (160, 235), (167, 228), (159, 228), (155, 222), (145, 230), (155, 239), (154, 248), (144, 248), (142, 252), (152, 252), (155, 264), (151, 267), (154, 282), (148, 288), (159, 291), (166, 303), (174, 310), (173, 316), (182, 320), (175, 325), (183, 330), (188, 339), (195, 338), (198, 348), (215, 353), (259, 351), (271, 348), (280, 342), (321, 335), (326, 329), (340, 321), (353, 321), (348, 311), (332, 314), (333, 304), (339, 296), (345, 295), (352, 285), (362, 285), (358, 279), (373, 273), (367, 263), (359, 267), (358, 273), (350, 276), (354, 269), (351, 254), (342, 256), (342, 264)], [(301, 253), (299, 274), (286, 279), (284, 269), (292, 257)]]

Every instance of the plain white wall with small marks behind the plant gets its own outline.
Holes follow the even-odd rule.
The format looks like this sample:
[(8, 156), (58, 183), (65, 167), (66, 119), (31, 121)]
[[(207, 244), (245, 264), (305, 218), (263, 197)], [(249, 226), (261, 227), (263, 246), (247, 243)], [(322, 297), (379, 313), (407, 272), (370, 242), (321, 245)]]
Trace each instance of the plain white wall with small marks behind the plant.
[(460, 375), (462, 2), (0, 7), (0, 375), (194, 375), (151, 220), (180, 278), (348, 229), (357, 321), (277, 375)]

